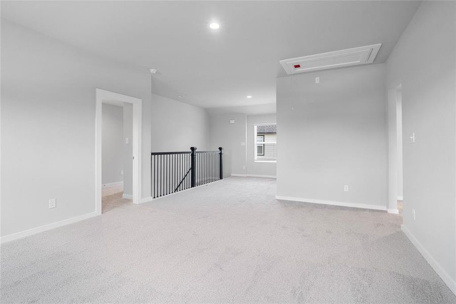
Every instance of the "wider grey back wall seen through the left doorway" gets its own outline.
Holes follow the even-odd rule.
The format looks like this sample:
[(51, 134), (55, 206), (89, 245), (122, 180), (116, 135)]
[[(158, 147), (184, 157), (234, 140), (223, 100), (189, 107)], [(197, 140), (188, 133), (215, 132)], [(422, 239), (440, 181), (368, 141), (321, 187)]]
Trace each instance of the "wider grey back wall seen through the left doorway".
[(102, 105), (101, 183), (123, 181), (123, 107)]

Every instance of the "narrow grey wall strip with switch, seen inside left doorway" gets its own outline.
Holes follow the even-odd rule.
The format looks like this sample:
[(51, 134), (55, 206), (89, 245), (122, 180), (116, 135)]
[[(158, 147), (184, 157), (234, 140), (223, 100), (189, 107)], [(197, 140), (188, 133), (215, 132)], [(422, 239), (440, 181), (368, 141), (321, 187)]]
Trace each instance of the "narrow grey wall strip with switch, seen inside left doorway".
[(128, 102), (123, 103), (122, 140), (123, 194), (133, 196), (133, 104)]

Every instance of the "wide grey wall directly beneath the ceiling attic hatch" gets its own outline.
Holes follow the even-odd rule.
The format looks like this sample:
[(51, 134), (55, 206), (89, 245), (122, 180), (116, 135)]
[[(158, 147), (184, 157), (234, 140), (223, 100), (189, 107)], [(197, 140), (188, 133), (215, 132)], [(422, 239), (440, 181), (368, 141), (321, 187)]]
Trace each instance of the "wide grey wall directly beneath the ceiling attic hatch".
[(384, 64), (277, 79), (278, 197), (386, 209), (384, 79)]

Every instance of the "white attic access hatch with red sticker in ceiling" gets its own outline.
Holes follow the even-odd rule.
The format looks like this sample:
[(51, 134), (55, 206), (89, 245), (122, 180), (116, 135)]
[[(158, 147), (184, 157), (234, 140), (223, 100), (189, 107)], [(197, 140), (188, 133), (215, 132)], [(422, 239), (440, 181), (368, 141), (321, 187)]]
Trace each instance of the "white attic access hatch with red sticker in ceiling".
[(346, 49), (334, 52), (283, 59), (280, 64), (287, 74), (297, 74), (323, 69), (367, 64), (374, 62), (381, 43), (365, 47)]

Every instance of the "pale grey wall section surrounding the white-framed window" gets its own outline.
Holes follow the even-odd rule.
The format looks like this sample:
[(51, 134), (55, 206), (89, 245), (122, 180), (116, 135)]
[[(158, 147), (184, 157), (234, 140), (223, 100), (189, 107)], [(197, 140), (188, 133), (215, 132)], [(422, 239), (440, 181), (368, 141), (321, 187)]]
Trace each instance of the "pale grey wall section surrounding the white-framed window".
[[(271, 115), (247, 116), (247, 174), (276, 176), (275, 162), (255, 161), (255, 124), (276, 123), (277, 117)], [(278, 135), (277, 135), (278, 136)]]

